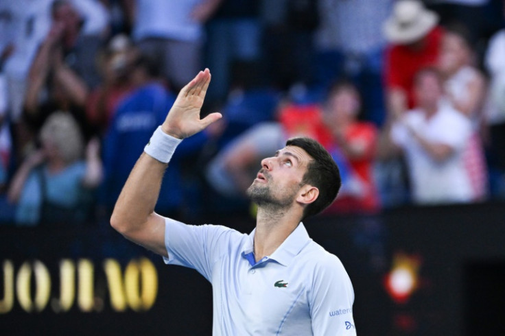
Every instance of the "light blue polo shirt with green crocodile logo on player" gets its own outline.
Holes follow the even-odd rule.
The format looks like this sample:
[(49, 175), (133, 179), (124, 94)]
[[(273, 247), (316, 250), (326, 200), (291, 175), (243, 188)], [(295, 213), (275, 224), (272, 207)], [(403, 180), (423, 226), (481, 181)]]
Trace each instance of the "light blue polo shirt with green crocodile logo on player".
[(258, 263), (254, 236), (165, 219), (165, 263), (212, 284), (213, 335), (356, 335), (351, 280), (303, 223)]

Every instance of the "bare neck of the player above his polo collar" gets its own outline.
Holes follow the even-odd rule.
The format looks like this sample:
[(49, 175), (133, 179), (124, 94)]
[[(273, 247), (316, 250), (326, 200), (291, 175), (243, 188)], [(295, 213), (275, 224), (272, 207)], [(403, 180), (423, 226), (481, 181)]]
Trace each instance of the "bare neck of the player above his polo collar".
[(300, 223), (301, 215), (293, 208), (260, 206), (256, 219), (255, 259), (272, 254)]

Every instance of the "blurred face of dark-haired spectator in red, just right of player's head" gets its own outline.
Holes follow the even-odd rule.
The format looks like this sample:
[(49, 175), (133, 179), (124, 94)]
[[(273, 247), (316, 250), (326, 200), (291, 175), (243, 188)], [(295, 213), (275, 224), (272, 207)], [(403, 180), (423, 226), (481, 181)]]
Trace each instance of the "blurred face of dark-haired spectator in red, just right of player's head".
[(331, 123), (354, 120), (361, 104), (357, 92), (351, 86), (343, 86), (331, 94), (327, 103), (327, 117)]

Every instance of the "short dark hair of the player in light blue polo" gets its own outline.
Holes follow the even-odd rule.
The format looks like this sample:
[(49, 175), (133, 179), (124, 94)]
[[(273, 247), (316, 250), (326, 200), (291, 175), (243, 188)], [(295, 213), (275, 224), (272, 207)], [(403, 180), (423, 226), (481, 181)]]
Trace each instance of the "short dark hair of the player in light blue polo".
[(338, 165), (325, 147), (322, 147), (314, 139), (307, 137), (292, 138), (286, 141), (286, 146), (300, 147), (312, 158), (303, 176), (302, 184), (310, 184), (318, 188), (319, 196), (314, 202), (307, 205), (305, 211), (303, 211), (302, 219), (317, 215), (335, 200), (340, 190), (342, 180), (340, 179)]

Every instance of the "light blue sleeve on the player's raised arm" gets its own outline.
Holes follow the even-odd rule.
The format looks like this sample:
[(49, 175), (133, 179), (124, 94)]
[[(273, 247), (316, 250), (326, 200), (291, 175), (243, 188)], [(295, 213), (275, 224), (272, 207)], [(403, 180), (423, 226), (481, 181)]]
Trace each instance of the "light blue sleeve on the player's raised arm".
[(212, 265), (226, 250), (231, 233), (225, 226), (193, 226), (174, 219), (165, 219), (165, 248), (169, 265), (196, 269), (207, 280), (212, 278)]

